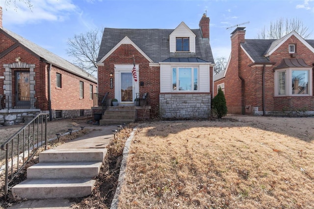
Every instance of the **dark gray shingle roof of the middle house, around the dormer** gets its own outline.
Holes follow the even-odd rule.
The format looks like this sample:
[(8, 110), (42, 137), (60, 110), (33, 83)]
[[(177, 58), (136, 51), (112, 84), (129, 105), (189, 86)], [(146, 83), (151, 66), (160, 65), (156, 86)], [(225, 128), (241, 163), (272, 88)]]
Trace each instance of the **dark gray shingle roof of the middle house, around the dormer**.
[(100, 61), (114, 46), (128, 36), (155, 63), (168, 58), (199, 58), (214, 63), (209, 39), (203, 39), (200, 29), (192, 29), (196, 34), (196, 53), (170, 53), (169, 34), (173, 29), (117, 29), (105, 28), (97, 61)]

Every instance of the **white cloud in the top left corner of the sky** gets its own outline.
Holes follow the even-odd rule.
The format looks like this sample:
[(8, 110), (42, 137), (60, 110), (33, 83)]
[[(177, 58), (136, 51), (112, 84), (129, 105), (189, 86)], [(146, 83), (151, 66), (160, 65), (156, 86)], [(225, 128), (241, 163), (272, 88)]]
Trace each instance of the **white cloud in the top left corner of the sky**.
[[(40, 21), (64, 21), (77, 7), (71, 0), (32, 0), (31, 9), (23, 1), (16, 1), (15, 5), (1, 5), (3, 10), (3, 23), (25, 24)], [(3, 3), (1, 3), (3, 4)]]

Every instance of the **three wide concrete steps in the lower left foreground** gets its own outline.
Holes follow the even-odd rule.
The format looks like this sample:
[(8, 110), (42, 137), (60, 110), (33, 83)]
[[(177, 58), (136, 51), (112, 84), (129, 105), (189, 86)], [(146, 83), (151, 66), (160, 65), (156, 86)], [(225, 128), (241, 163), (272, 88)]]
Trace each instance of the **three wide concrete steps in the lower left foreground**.
[(106, 149), (50, 149), (27, 168), (27, 180), (12, 187), (22, 199), (76, 198), (91, 194)]

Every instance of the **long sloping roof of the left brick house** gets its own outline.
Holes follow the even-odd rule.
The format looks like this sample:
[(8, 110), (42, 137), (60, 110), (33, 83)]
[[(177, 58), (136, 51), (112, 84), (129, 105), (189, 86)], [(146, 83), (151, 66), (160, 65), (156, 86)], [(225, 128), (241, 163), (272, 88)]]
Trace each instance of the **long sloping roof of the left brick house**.
[(86, 78), (90, 81), (97, 83), (97, 78), (94, 77), (92, 74), (87, 73), (86, 71), (78, 68), (76, 65), (66, 61), (65, 59), (53, 54), (51, 51), (48, 51), (47, 49), (38, 46), (34, 44), (31, 41), (28, 41), (24, 37), (13, 33), (12, 31), (9, 31), (7, 29), (3, 28), (3, 31), (6, 32), (8, 35), (16, 39), (20, 44), (28, 48), (30, 51), (32, 51), (34, 54), (37, 54), (39, 57), (44, 58), (49, 63), (51, 63), (54, 66), (57, 66), (63, 70), (67, 70), (69, 72), (72, 72), (80, 77)]

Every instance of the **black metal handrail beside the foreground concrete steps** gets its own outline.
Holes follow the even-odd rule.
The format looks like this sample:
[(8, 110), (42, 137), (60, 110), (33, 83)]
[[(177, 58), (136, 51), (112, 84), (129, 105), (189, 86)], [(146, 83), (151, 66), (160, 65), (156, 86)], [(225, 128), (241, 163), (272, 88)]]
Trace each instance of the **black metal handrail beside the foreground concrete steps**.
[(34, 116), (33, 119), (1, 145), (1, 150), (5, 151), (5, 199), (7, 198), (8, 184), (19, 174), (25, 164), (32, 159), (38, 148), (45, 146), (45, 150), (47, 150), (48, 118), (49, 114), (43, 113)]

